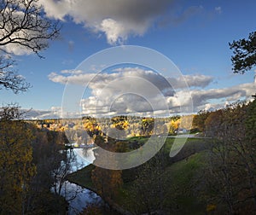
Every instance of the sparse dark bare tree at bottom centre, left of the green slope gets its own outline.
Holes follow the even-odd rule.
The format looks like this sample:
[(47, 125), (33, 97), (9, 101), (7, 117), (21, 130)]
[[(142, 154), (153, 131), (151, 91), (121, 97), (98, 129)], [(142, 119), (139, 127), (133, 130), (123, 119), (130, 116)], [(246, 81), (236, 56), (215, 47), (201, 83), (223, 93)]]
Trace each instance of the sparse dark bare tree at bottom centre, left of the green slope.
[[(158, 137), (157, 137), (158, 138)], [(155, 139), (157, 150), (160, 140)], [(166, 167), (165, 148), (162, 147), (153, 158), (137, 168), (136, 180), (132, 183), (131, 201), (135, 214), (169, 214), (164, 208), (166, 198), (166, 182), (164, 170)]]

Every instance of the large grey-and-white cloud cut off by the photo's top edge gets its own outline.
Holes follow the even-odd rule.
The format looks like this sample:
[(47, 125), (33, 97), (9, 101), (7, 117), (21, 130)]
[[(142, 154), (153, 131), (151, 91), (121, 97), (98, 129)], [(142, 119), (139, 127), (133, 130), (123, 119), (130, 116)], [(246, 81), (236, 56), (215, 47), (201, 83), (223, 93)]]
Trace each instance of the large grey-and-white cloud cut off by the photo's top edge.
[(66, 20), (93, 32), (103, 32), (109, 44), (122, 44), (129, 35), (143, 35), (172, 6), (172, 0), (40, 0), (51, 18)]

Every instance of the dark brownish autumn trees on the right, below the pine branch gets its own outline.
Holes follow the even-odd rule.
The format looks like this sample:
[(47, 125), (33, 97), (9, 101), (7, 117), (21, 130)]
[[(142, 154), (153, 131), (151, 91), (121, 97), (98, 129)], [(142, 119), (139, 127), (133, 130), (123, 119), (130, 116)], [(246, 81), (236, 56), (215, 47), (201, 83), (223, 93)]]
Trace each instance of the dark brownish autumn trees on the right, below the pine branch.
[(206, 120), (207, 136), (216, 140), (209, 154), (209, 182), (218, 203), (225, 203), (230, 213), (256, 208), (255, 110), (255, 101), (237, 103)]

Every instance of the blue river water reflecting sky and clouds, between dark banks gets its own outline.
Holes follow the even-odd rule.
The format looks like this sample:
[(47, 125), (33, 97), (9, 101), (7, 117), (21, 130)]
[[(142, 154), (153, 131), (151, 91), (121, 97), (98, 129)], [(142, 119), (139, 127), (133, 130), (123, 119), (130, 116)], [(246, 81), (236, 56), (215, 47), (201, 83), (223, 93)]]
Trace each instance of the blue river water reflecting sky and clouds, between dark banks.
[[(74, 148), (73, 153), (75, 154), (75, 159), (72, 162), (70, 173), (90, 165), (95, 159), (93, 148)], [(99, 204), (102, 202), (101, 197), (96, 193), (68, 181), (62, 186), (61, 195), (69, 203), (68, 214), (70, 215), (79, 214), (90, 203)]]

